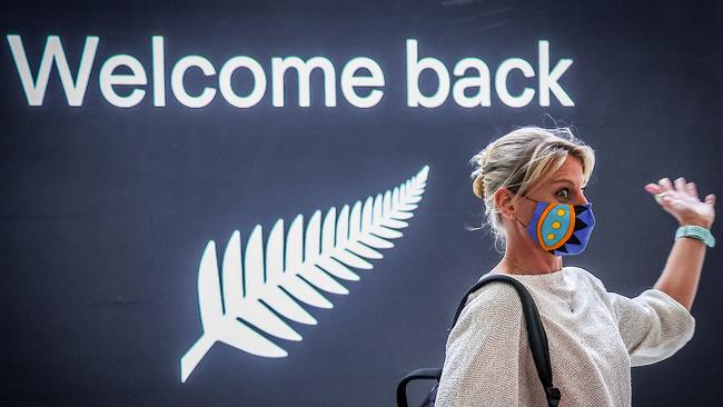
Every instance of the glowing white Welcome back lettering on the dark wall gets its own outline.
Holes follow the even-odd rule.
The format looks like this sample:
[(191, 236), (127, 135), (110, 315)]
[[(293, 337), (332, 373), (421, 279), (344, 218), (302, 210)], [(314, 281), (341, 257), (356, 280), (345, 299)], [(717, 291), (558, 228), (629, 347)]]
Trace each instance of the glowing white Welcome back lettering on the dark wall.
[[(86, 38), (77, 75), (71, 73), (66, 52), (58, 36), (48, 36), (44, 50), (40, 59), (40, 66), (33, 76), (22, 38), (18, 34), (7, 36), (10, 52), (24, 91), (29, 106), (42, 106), (50, 80), (52, 67), (56, 67), (60, 83), (65, 91), (68, 106), (82, 106), (88, 89), (90, 72), (93, 69), (96, 51), (100, 42), (99, 37), (89, 36)], [(574, 101), (559, 85), (559, 80), (572, 66), (572, 59), (561, 59), (551, 68), (549, 42), (541, 40), (537, 42), (538, 59), (537, 70), (533, 63), (523, 58), (508, 58), (503, 61), (494, 72), (494, 77), (487, 63), (478, 58), (463, 58), (456, 62), (450, 78), (449, 70), (439, 59), (434, 57), (420, 57), (418, 41), (406, 40), (406, 100), (408, 107), (436, 108), (442, 106), (449, 98), (464, 108), (477, 108), (492, 106), (492, 91), (503, 105), (513, 108), (529, 106), (538, 96), (538, 105), (551, 106), (551, 96), (565, 107), (575, 106)], [(98, 73), (98, 86), (103, 98), (112, 106), (119, 108), (131, 108), (138, 106), (146, 98), (148, 90), (152, 90), (152, 103), (155, 107), (166, 106), (166, 52), (164, 37), (151, 38), (151, 63), (150, 72), (152, 87), (146, 89), (149, 79), (143, 64), (139, 59), (130, 54), (113, 54), (106, 59), (100, 66)], [(122, 68), (130, 73), (119, 73)], [(234, 72), (238, 70), (248, 71), (252, 78), (251, 90), (247, 95), (238, 95), (231, 87)], [(270, 68), (270, 91), (271, 106), (284, 107), (286, 89), (284, 78), (287, 72), (295, 71), (298, 80), (298, 106), (310, 106), (310, 76), (311, 71), (320, 70), (323, 73), (324, 105), (326, 107), (337, 106), (337, 73), (331, 61), (321, 56), (304, 60), (299, 57), (274, 57)], [(419, 76), (423, 71), (433, 72), (437, 79), (437, 89), (430, 95), (423, 95), (419, 89)], [(360, 71), (368, 72), (363, 75)], [(218, 87), (205, 87), (199, 93), (191, 95), (184, 86), (186, 76), (217, 77)], [(518, 95), (513, 95), (507, 87), (509, 77), (516, 76), (525, 82), (524, 89)], [(529, 83), (531, 78), (537, 78), (536, 83)], [(454, 80), (454, 85), (452, 83)], [(227, 103), (247, 109), (258, 105), (266, 95), (268, 88), (267, 70), (256, 59), (249, 56), (235, 56), (221, 64), (217, 71), (216, 66), (207, 58), (191, 54), (180, 58), (170, 69), (170, 90), (175, 99), (188, 108), (204, 108), (220, 92), (221, 99)], [(528, 85), (533, 85), (532, 87)], [(536, 87), (534, 86), (536, 85)], [(356, 57), (350, 59), (341, 69), (339, 86), (344, 100), (357, 108), (373, 108), (384, 97), (385, 76), (384, 71), (374, 59), (368, 57)], [(119, 93), (122, 88), (122, 95)], [(364, 89), (359, 95), (358, 88)], [(130, 90), (130, 91), (128, 91)], [(465, 95), (471, 90), (471, 96)]]

